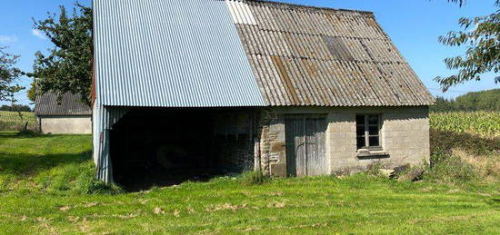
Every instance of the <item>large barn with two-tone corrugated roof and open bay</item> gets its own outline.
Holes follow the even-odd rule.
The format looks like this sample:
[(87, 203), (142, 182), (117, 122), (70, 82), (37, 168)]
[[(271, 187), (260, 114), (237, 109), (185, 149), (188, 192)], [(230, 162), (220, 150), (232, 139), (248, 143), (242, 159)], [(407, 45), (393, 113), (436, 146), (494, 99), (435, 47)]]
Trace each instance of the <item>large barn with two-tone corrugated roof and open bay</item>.
[(118, 183), (429, 159), (434, 98), (370, 12), (94, 1), (94, 158)]

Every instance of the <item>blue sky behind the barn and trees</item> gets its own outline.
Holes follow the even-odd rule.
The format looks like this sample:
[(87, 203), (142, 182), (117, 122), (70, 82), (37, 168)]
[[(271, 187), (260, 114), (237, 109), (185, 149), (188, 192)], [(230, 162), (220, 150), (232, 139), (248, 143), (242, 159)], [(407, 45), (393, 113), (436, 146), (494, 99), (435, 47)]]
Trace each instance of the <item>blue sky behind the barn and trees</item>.
[[(443, 59), (463, 54), (464, 48), (447, 47), (437, 42), (437, 37), (449, 30), (458, 30), (457, 20), (462, 17), (488, 15), (495, 11), (494, 0), (469, 0), (462, 8), (445, 0), (278, 0), (301, 5), (315, 5), (333, 8), (365, 10), (375, 13), (377, 21), (389, 34), (395, 45), (405, 56), (415, 72), (424, 81), (431, 93), (455, 97), (462, 93), (499, 88), (493, 77), (484, 75), (480, 82), (469, 82), (441, 93), (439, 85), (433, 81), (436, 75), (452, 74), (445, 68)], [(81, 3), (90, 5), (89, 0)], [(68, 9), (73, 1), (55, 0), (3, 0), (0, 9), (0, 45), (9, 46), (8, 52), (20, 54), (17, 64), (30, 72), (35, 60), (35, 52), (46, 52), (52, 45), (39, 32), (33, 30), (33, 20), (45, 19), (47, 12), (58, 12), (58, 5)], [(29, 87), (31, 80), (23, 77), (21, 84)], [(16, 95), (19, 103), (30, 103), (26, 91)]]

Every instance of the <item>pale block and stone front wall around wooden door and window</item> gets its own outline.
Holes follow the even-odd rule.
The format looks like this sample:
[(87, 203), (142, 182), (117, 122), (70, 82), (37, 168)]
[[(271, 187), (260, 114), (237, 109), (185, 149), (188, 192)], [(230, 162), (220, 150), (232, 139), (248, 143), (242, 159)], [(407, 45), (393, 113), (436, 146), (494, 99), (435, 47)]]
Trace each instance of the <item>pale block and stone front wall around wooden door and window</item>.
[[(374, 162), (394, 167), (429, 161), (427, 107), (275, 108), (261, 113), (260, 167), (265, 174), (286, 174), (285, 115), (296, 113), (326, 114), (325, 157), (331, 173), (361, 171)], [(388, 153), (388, 157), (383, 157), (384, 154), (358, 156), (355, 141), (355, 115), (358, 113), (381, 115), (381, 153)]]

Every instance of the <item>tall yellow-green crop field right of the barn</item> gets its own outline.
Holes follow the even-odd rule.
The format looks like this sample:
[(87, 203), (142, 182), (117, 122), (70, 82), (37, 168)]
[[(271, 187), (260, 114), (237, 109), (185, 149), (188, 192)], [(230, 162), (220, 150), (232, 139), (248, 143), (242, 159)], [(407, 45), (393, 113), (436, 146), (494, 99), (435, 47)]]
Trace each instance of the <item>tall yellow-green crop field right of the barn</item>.
[(500, 136), (500, 112), (431, 113), (430, 123), (431, 129), (438, 131)]

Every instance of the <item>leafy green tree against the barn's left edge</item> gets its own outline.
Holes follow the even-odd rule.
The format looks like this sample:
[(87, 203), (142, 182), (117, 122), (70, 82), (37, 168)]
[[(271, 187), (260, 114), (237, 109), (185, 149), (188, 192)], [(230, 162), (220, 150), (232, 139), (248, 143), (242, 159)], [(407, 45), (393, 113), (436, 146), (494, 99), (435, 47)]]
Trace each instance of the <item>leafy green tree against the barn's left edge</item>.
[(37, 93), (82, 94), (82, 102), (91, 103), (92, 71), (92, 8), (75, 4), (68, 16), (64, 6), (60, 14), (49, 14), (43, 21), (35, 21), (35, 29), (43, 32), (55, 45), (50, 54), (35, 54), (34, 72)]

